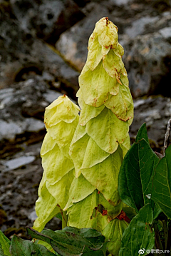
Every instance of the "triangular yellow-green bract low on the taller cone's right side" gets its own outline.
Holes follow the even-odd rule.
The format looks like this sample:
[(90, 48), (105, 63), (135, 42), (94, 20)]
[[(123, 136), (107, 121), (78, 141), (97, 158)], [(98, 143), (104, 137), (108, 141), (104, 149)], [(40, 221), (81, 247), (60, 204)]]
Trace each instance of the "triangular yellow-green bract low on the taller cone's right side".
[(81, 170), (86, 180), (95, 186), (112, 205), (120, 203), (118, 174), (122, 159), (122, 150), (118, 148), (115, 153), (108, 156), (102, 163)]

